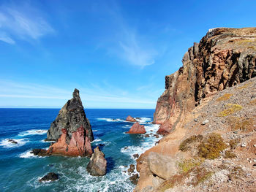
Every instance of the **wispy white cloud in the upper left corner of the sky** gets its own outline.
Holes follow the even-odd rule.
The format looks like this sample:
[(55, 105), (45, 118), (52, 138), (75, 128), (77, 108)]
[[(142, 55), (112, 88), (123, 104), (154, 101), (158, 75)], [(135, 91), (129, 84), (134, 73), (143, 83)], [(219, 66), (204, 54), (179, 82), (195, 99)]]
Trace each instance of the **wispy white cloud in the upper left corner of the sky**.
[(3, 42), (15, 44), (15, 39), (39, 39), (53, 32), (41, 12), (29, 4), (0, 7), (0, 40)]

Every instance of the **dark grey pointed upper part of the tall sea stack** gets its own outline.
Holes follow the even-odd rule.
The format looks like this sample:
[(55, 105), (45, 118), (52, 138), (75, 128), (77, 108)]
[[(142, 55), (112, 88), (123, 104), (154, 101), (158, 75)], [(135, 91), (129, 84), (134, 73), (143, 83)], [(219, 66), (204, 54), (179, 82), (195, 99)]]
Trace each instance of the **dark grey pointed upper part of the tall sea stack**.
[(86, 129), (88, 132), (88, 138), (93, 141), (94, 136), (91, 131), (91, 125), (86, 118), (86, 113), (83, 110), (83, 104), (79, 96), (78, 89), (75, 88), (73, 92), (73, 98), (67, 101), (67, 103), (59, 111), (59, 115), (50, 124), (50, 129), (47, 132), (47, 139), (58, 141), (62, 134), (61, 129), (66, 129), (70, 141), (72, 133), (77, 131), (80, 126)]

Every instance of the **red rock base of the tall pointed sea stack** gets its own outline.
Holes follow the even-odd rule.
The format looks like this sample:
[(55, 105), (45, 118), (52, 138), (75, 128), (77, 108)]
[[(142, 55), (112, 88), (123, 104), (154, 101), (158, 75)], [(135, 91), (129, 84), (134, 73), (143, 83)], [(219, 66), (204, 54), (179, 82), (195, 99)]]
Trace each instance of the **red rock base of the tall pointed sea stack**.
[[(67, 143), (67, 130), (62, 128), (61, 131), (62, 134), (58, 142), (49, 147), (47, 151), (49, 155), (89, 156), (92, 154), (91, 141), (87, 137), (88, 132), (83, 126), (72, 133), (69, 143)], [(86, 137), (84, 137), (85, 133)]]

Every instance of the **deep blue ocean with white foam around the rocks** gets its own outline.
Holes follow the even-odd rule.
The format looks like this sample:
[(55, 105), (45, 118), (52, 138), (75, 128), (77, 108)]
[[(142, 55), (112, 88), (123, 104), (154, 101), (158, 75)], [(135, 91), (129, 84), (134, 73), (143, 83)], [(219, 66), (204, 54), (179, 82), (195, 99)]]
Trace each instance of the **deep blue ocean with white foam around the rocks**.
[[(88, 174), (86, 157), (37, 157), (29, 153), (34, 148), (49, 147), (44, 139), (59, 110), (0, 109), (0, 191), (133, 191), (135, 185), (124, 171), (135, 164), (133, 154), (143, 153), (158, 140), (153, 134), (159, 126), (151, 124), (154, 110), (85, 110), (94, 133), (92, 147), (105, 145), (100, 147), (108, 161), (103, 177)], [(125, 121), (128, 115), (140, 118), (147, 134), (153, 134), (125, 134), (133, 124)], [(39, 183), (48, 172), (59, 174), (59, 180)]]

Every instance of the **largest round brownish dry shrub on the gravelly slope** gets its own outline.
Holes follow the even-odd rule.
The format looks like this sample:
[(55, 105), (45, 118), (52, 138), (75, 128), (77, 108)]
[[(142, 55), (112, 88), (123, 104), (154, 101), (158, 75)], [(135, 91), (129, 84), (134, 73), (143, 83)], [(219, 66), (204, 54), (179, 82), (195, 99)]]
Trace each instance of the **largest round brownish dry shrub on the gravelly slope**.
[(201, 158), (214, 159), (218, 158), (220, 152), (225, 150), (226, 147), (227, 145), (225, 144), (220, 134), (212, 133), (209, 134), (208, 137), (200, 143), (200, 145), (197, 147), (197, 150), (198, 155)]

